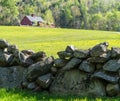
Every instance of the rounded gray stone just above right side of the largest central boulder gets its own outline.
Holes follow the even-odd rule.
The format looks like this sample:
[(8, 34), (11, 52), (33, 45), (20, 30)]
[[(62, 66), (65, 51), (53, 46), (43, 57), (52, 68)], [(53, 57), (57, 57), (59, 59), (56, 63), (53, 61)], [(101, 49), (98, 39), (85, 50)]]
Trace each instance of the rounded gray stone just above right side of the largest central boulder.
[(80, 64), (79, 69), (84, 72), (93, 73), (95, 71), (95, 65), (85, 60)]

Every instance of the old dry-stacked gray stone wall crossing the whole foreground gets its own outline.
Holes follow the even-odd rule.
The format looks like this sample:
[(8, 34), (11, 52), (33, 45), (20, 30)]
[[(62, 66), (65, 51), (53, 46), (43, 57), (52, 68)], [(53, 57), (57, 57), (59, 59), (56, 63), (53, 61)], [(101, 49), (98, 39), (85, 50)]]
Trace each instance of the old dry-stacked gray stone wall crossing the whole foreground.
[(0, 87), (81, 96), (120, 95), (120, 48), (67, 46), (57, 59), (0, 39)]

